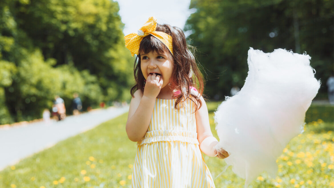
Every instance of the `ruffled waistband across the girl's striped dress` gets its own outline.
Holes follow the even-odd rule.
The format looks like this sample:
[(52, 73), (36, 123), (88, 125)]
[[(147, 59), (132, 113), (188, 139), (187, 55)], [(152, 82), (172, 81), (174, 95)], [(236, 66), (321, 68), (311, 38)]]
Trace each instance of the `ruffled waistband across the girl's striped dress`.
[(149, 144), (160, 141), (181, 141), (190, 144), (199, 144), (197, 132), (182, 130), (154, 130), (146, 132), (143, 139), (137, 142), (137, 145)]

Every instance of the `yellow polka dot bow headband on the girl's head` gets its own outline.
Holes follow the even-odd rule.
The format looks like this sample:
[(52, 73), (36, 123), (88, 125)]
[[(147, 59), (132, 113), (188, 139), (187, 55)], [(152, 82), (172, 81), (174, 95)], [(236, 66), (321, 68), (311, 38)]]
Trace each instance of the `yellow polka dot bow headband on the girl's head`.
[(150, 17), (147, 22), (138, 30), (138, 33), (131, 33), (124, 37), (125, 46), (130, 50), (131, 56), (135, 54), (138, 55), (140, 41), (142, 41), (145, 36), (150, 34), (164, 43), (168, 50), (173, 54), (172, 36), (164, 32), (155, 31), (156, 28), (157, 20), (154, 17)]

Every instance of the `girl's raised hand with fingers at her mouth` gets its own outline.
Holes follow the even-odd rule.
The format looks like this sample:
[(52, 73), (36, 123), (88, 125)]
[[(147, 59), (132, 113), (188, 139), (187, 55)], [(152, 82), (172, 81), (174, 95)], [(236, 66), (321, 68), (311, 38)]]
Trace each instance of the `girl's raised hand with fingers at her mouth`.
[(145, 83), (143, 96), (155, 99), (160, 93), (162, 83), (160, 75), (156, 75), (155, 73), (149, 74)]

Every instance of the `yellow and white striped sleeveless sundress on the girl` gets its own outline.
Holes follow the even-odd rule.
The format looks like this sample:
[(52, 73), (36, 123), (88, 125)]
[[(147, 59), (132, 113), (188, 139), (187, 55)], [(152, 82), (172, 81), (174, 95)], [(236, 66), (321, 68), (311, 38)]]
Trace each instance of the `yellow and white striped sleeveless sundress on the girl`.
[(194, 103), (156, 98), (150, 125), (137, 143), (132, 188), (212, 188), (199, 150)]

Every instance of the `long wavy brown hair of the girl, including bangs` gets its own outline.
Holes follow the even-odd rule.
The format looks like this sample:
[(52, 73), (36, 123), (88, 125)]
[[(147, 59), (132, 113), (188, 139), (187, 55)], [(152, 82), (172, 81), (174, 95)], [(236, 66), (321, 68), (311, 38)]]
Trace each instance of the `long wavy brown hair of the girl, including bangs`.
[[(134, 77), (136, 84), (131, 88), (131, 95), (134, 97), (135, 91), (138, 89), (144, 93), (145, 78), (141, 71), (141, 57), (140, 54), (147, 54), (149, 52), (166, 53), (174, 61), (172, 80), (176, 86), (175, 89), (181, 91), (176, 96), (175, 108), (179, 109), (178, 104), (184, 102), (187, 98), (192, 100), (195, 104), (195, 109), (199, 109), (202, 106), (200, 95), (203, 93), (203, 76), (199, 71), (194, 55), (190, 52), (187, 46), (186, 38), (183, 31), (178, 27), (172, 27), (168, 24), (157, 24), (156, 31), (161, 31), (172, 36), (173, 40), (173, 54), (170, 53), (164, 43), (155, 38), (153, 35), (148, 35), (142, 39), (139, 47), (139, 55), (136, 57), (134, 65)], [(190, 87), (195, 87), (199, 93), (198, 96), (190, 92)], [(196, 111), (195, 110), (195, 111)]]

